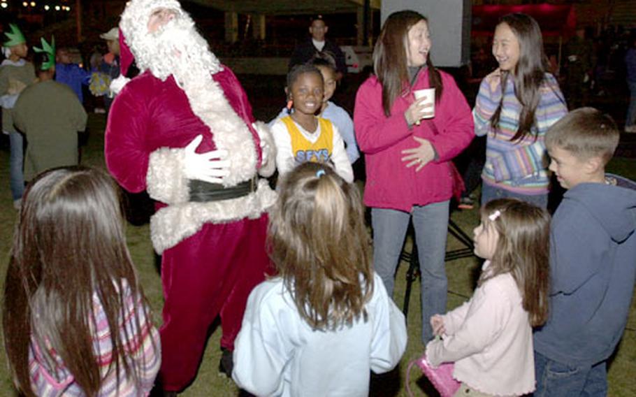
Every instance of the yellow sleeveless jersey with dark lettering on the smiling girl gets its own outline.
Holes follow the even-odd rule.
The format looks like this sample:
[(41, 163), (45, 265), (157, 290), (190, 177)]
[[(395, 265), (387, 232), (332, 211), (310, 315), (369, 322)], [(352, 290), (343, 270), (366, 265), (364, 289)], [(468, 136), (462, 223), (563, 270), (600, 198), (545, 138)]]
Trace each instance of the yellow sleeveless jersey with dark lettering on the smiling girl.
[(282, 117), (282, 122), (287, 127), (291, 138), (291, 152), (294, 154), (296, 164), (307, 161), (313, 163), (326, 163), (331, 159), (333, 152), (333, 126), (329, 120), (317, 117), (320, 136), (315, 143), (311, 143), (298, 129), (291, 116)]

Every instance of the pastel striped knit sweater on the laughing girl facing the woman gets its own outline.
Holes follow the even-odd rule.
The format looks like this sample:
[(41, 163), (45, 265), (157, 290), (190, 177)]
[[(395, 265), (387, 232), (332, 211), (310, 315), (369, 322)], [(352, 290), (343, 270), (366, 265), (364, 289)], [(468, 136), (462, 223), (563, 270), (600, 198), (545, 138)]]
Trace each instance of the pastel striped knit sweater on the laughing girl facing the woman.
[[(565, 99), (553, 75), (546, 73), (540, 87), (541, 99), (535, 111), (532, 134), (523, 140), (510, 141), (519, 128), (521, 103), (514, 95), (514, 83), (508, 79), (501, 110), (499, 131), (490, 125), (490, 119), (499, 106), (500, 85), (491, 89), (487, 78), (479, 86), (472, 116), (475, 120), (475, 134), (488, 134), (486, 143), (486, 164), (482, 180), (488, 185), (506, 189), (517, 194), (546, 194), (548, 192), (549, 161), (544, 145), (546, 131), (552, 124), (568, 113)], [(537, 136), (535, 140), (534, 136)]]

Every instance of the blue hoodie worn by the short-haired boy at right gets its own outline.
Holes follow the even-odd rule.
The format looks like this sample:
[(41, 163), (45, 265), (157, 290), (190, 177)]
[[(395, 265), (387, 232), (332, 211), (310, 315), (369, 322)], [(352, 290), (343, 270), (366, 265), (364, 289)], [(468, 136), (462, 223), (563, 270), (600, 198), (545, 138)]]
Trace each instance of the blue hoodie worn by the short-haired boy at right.
[(627, 323), (636, 281), (636, 184), (609, 179), (619, 185), (568, 190), (552, 219), (550, 314), (534, 347), (561, 363), (607, 359)]

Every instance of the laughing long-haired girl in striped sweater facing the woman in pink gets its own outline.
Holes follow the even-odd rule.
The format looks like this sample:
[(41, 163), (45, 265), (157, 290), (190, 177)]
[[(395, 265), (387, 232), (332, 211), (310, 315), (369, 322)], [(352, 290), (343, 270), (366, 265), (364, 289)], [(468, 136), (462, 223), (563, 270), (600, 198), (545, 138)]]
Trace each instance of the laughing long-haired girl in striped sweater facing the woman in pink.
[(482, 80), (472, 111), (475, 134), (488, 135), (482, 204), (514, 197), (545, 208), (544, 136), (568, 108), (556, 79), (546, 72), (537, 22), (521, 13), (505, 15), (495, 30), (493, 56), (499, 67)]

